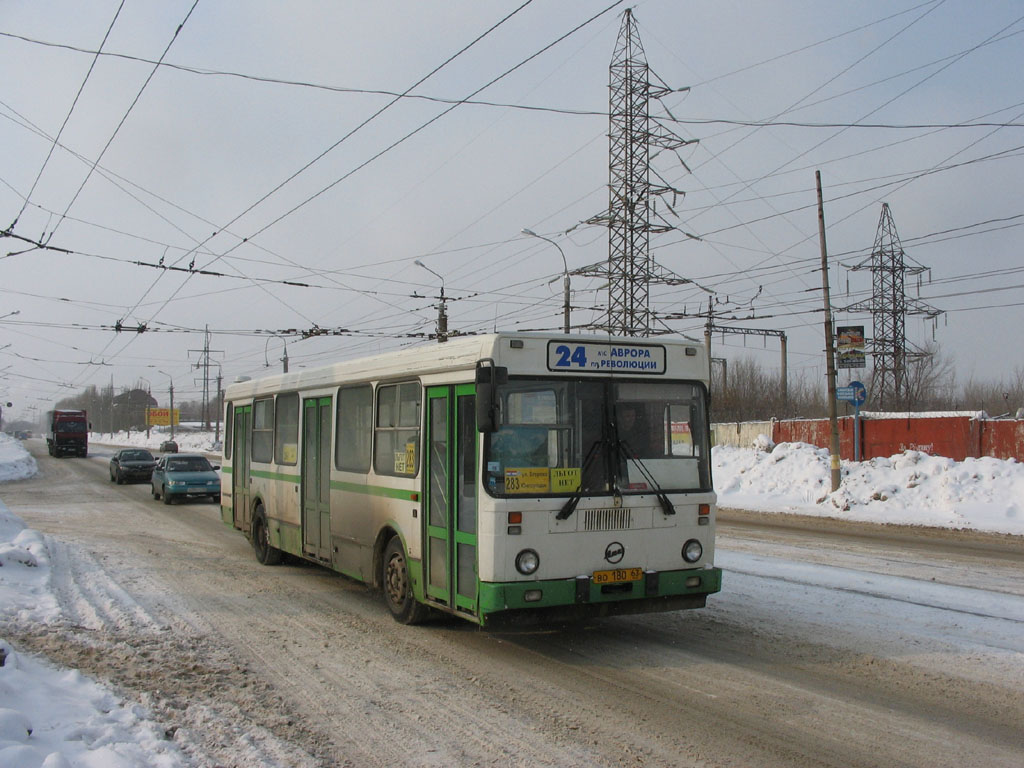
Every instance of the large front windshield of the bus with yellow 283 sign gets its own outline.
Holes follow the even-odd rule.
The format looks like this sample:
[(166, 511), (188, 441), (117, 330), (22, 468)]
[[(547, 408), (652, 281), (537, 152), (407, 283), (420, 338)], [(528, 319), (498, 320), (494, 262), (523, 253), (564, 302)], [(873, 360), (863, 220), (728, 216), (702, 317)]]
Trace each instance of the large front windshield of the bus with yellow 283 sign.
[(494, 496), (710, 490), (707, 397), (679, 381), (511, 379), (484, 439)]

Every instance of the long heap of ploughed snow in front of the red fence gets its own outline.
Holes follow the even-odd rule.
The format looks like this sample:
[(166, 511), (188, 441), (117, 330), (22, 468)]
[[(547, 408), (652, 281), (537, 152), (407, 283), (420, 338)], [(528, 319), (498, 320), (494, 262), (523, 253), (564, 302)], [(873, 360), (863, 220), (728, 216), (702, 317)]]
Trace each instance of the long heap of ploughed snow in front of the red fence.
[(1024, 464), (1013, 459), (956, 462), (907, 451), (843, 462), (835, 494), (825, 449), (716, 445), (712, 459), (722, 507), (1024, 536)]

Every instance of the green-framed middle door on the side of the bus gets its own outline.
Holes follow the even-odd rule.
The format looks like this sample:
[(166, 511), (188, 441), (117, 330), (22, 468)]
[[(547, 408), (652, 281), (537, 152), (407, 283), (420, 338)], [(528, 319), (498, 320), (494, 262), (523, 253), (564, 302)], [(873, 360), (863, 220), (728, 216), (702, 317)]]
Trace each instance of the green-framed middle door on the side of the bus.
[(302, 552), (331, 562), (331, 398), (302, 401)]

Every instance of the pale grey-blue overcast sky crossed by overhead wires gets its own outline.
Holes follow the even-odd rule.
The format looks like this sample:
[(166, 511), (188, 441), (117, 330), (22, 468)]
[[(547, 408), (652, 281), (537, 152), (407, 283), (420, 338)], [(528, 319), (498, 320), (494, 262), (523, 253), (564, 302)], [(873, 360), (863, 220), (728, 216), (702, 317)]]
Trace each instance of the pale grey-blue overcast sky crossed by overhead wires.
[[(1024, 369), (1020, 2), (0, 0), (6, 416), (112, 380), (198, 397), (207, 327), (225, 381), (286, 343), (292, 370), (431, 343), (441, 279), (452, 330), (558, 329), (561, 256), (521, 230), (569, 270), (607, 259), (586, 222), (627, 7), (657, 81), (689, 88), (652, 112), (696, 139), (654, 163), (685, 195), (651, 253), (695, 282), (653, 289), (659, 329), (702, 339), (660, 318), (711, 297), (823, 382), (820, 170), (836, 307), (869, 300), (849, 267), (888, 203), (928, 268), (908, 296), (944, 311), (907, 341), (961, 382)], [(574, 326), (605, 304), (572, 278)], [(774, 338), (714, 353), (778, 366)]]

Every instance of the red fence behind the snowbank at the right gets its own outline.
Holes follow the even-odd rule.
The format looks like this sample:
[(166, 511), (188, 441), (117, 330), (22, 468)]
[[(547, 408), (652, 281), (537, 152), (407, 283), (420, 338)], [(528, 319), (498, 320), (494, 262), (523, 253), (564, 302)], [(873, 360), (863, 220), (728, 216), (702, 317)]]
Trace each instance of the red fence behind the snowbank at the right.
[[(853, 459), (852, 416), (839, 420), (840, 456)], [(809, 442), (828, 447), (828, 421), (804, 419), (777, 421), (772, 425), (775, 442)], [(992, 421), (976, 414), (927, 415), (882, 414), (861, 417), (862, 459), (887, 457), (904, 451), (947, 456), (956, 461), (968, 457), (1024, 461), (1024, 420)]]

